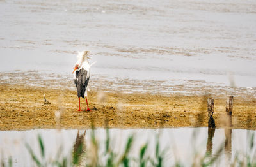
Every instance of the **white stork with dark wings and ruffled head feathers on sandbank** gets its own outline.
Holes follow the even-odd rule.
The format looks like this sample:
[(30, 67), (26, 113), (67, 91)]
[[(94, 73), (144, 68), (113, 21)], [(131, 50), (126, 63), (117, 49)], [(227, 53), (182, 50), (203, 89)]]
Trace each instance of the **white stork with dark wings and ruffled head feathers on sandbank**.
[(88, 59), (90, 59), (88, 55), (89, 51), (83, 51), (83, 52), (77, 52), (77, 62), (75, 64), (75, 67), (73, 68), (74, 71), (74, 83), (76, 85), (76, 90), (77, 90), (77, 96), (79, 98), (79, 110), (81, 111), (80, 108), (80, 98), (86, 99), (86, 105), (87, 105), (87, 110), (90, 111), (90, 108), (88, 106), (88, 101), (87, 101), (87, 90), (88, 90), (88, 83), (90, 80), (90, 68), (93, 64), (89, 64)]

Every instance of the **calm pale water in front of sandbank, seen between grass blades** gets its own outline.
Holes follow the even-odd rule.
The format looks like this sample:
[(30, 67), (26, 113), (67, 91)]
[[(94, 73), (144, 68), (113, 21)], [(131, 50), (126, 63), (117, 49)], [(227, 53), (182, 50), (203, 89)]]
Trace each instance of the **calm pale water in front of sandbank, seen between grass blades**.
[[(223, 148), (220, 159), (216, 166), (228, 165), (230, 161), (234, 161), (236, 153), (246, 154), (248, 151), (248, 133), (256, 134), (256, 131), (246, 131), (244, 129), (232, 129), (232, 139), (230, 147), (225, 145), (225, 129), (216, 129), (211, 143), (207, 143), (209, 139), (207, 128), (176, 128), (176, 129), (110, 129), (111, 147), (115, 152), (122, 153), (124, 151), (127, 138), (131, 135), (135, 136), (131, 149), (131, 157), (138, 157), (140, 147), (149, 143), (147, 155), (154, 157), (156, 147), (156, 136), (159, 134), (161, 150), (166, 150), (164, 154), (164, 164), (173, 164), (180, 160), (186, 166), (193, 162), (195, 153), (204, 154), (206, 150), (212, 149), (212, 155), (216, 156), (218, 149)], [(227, 132), (227, 131), (226, 131)], [(80, 130), (79, 134), (83, 135), (84, 130)], [(26, 166), (31, 164), (31, 157), (25, 148), (25, 143), (29, 143), (36, 155), (40, 155), (37, 136), (40, 134), (45, 143), (45, 153), (47, 159), (56, 157), (56, 152), (60, 147), (63, 148), (61, 156), (70, 155), (74, 144), (76, 143), (77, 130), (56, 130), (56, 129), (38, 129), (29, 131), (0, 131), (0, 157), (7, 161), (12, 157), (14, 166)], [(104, 142), (106, 141), (106, 130), (96, 129), (95, 135), (100, 143), (99, 154), (104, 152)], [(86, 151), (90, 148), (90, 139), (92, 130), (86, 129), (86, 135), (83, 140), (86, 143)], [(256, 142), (256, 139), (254, 140)], [(255, 150), (255, 146), (254, 146)], [(89, 153), (90, 154), (90, 153)]]

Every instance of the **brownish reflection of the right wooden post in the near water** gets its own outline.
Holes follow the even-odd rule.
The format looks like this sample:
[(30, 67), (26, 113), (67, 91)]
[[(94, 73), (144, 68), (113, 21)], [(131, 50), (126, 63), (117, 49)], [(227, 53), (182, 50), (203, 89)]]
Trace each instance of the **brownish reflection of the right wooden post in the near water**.
[(226, 165), (230, 164), (232, 157), (232, 129), (231, 127), (225, 127), (225, 161)]

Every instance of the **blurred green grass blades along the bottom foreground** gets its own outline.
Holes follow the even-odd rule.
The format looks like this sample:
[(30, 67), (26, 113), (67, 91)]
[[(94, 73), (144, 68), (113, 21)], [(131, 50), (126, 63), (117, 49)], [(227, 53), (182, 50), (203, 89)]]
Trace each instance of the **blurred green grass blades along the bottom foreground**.
[[(85, 134), (85, 132), (84, 132)], [(45, 157), (45, 145), (42, 137), (38, 135), (38, 145), (40, 147), (40, 156), (36, 156), (35, 149), (31, 148), (28, 143), (26, 143), (26, 148), (31, 155), (31, 161), (35, 166), (44, 167), (44, 166), (219, 166), (218, 159), (220, 159), (221, 154), (223, 154), (223, 147), (220, 147), (216, 154), (212, 156), (211, 151), (207, 151), (203, 156), (195, 152), (193, 154), (193, 162), (191, 164), (183, 164), (181, 161), (176, 160), (171, 164), (166, 164), (166, 150), (160, 149), (159, 137), (156, 136), (156, 145), (154, 154), (152, 156), (147, 156), (148, 143), (141, 145), (138, 148), (139, 154), (135, 157), (132, 157), (131, 147), (134, 144), (134, 137), (129, 136), (127, 138), (125, 147), (120, 154), (114, 152), (114, 148), (111, 146), (111, 140), (109, 135), (109, 129), (106, 129), (106, 141), (104, 143), (99, 143), (95, 131), (92, 131), (90, 145), (86, 146), (84, 143), (83, 136), (79, 136), (77, 133), (77, 140), (72, 150), (70, 156), (61, 157), (61, 149), (58, 150), (58, 153), (54, 159), (47, 160)], [(254, 133), (248, 131), (247, 134), (248, 143), (247, 143), (247, 152), (246, 154), (236, 154), (234, 160), (230, 162), (230, 166), (256, 166), (256, 149), (255, 149), (255, 136)], [(104, 145), (104, 152), (99, 153), (99, 145)], [(225, 143), (226, 144), (226, 143)], [(86, 148), (87, 147), (87, 148)], [(37, 154), (38, 155), (38, 154)], [(1, 166), (13, 166), (12, 159), (8, 159), (8, 162), (4, 163), (3, 159)]]

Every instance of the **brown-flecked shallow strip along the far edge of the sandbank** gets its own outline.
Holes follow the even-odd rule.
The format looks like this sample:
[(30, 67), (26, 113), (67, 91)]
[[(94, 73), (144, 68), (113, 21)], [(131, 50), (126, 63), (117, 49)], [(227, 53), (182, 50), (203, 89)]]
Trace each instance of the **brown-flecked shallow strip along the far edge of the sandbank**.
[[(14, 71), (0, 73), (0, 83), (18, 84), (51, 89), (72, 89), (76, 92), (70, 75), (60, 75), (51, 71)], [(244, 99), (256, 98), (256, 87), (227, 87), (223, 83), (204, 80), (132, 80), (106, 75), (92, 75), (89, 88), (96, 92), (150, 93), (196, 96), (236, 96)]]

